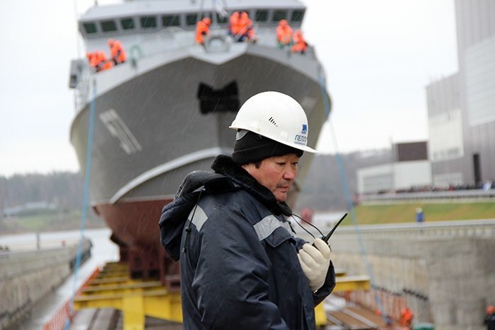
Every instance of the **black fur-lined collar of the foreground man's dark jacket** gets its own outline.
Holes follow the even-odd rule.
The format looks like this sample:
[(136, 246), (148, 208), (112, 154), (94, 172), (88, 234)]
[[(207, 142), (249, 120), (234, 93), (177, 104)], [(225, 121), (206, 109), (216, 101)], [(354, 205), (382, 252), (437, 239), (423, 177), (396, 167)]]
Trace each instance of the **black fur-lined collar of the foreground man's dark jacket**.
[(215, 158), (211, 169), (216, 173), (225, 175), (236, 184), (243, 187), (244, 190), (255, 196), (264, 206), (267, 206), (270, 211), (276, 215), (284, 214), (284, 216), (291, 216), (291, 208), (285, 202), (277, 202), (275, 195), (267, 187), (258, 183), (257, 180), (252, 177), (248, 171), (243, 167), (234, 163), (231, 157), (226, 155), (219, 155)]

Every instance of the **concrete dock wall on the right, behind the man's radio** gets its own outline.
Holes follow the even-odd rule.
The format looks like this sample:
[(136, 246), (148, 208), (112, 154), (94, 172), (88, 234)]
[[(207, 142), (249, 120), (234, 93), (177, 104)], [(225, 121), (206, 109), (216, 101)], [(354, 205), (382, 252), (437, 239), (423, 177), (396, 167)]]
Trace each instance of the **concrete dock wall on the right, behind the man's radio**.
[(495, 304), (495, 220), (363, 226), (361, 242), (353, 228), (337, 232), (337, 268), (405, 297), (416, 322), (484, 329), (484, 310)]

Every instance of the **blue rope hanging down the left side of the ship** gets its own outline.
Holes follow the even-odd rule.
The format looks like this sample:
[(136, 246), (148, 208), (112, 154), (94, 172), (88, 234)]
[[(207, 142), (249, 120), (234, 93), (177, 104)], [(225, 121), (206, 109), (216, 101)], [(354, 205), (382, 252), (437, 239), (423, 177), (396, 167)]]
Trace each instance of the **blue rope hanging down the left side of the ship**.
[[(93, 155), (93, 131), (95, 126), (95, 102), (96, 102), (96, 81), (93, 81), (93, 98), (91, 100), (89, 110), (89, 127), (88, 127), (88, 148), (86, 150), (86, 172), (84, 174), (84, 190), (83, 190), (83, 209), (81, 212), (81, 237), (77, 249), (76, 265), (74, 266), (74, 283), (72, 285), (71, 303), (69, 305), (69, 315), (74, 309), (74, 297), (76, 296), (77, 273), (81, 264), (81, 254), (83, 249), (84, 229), (86, 228), (86, 216), (88, 213), (89, 204), (89, 177), (91, 173), (91, 156)], [(71, 319), (67, 316), (64, 329), (69, 330)]]

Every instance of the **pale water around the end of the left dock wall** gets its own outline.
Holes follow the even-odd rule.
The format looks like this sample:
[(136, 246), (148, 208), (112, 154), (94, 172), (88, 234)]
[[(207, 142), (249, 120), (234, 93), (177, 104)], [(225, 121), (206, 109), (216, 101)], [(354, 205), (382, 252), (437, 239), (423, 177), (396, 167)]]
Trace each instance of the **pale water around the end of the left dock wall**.
[[(93, 273), (96, 267), (103, 266), (107, 261), (117, 261), (119, 259), (119, 249), (116, 244), (110, 241), (111, 230), (91, 229), (85, 230), (84, 236), (93, 242), (91, 249), (91, 258), (80, 266), (77, 276), (71, 275), (69, 278), (38, 302), (30, 314), (26, 317), (16, 329), (32, 330), (42, 329), (43, 324), (47, 322), (52, 314), (64, 303), (71, 298), (74, 290), (86, 281), (86, 278)], [(40, 247), (56, 247), (62, 244), (76, 244), (81, 237), (79, 230), (63, 232), (42, 232), (39, 235)], [(23, 251), (26, 249), (35, 249), (37, 246), (37, 235), (35, 233), (20, 235), (1, 235), (0, 246), (8, 246), (11, 252)]]

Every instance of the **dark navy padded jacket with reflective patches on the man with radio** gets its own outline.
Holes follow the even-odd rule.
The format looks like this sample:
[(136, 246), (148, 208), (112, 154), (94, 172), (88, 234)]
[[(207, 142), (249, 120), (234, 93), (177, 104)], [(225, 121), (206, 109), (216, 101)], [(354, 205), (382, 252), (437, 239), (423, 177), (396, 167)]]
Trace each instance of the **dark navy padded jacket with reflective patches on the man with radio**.
[(312, 293), (289, 206), (227, 156), (211, 168), (187, 175), (160, 219), (163, 247), (180, 258), (185, 329), (315, 329), (333, 265)]

